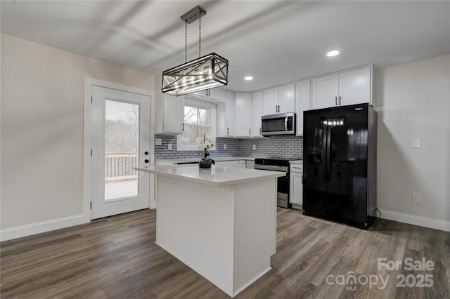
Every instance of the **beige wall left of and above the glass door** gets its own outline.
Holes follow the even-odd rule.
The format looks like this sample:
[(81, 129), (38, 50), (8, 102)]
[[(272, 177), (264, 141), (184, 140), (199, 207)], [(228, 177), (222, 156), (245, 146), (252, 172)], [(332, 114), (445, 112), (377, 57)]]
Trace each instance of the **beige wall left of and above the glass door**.
[(2, 230), (82, 213), (84, 77), (154, 75), (1, 34)]

